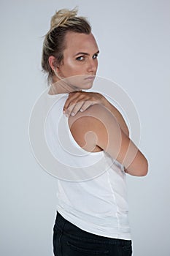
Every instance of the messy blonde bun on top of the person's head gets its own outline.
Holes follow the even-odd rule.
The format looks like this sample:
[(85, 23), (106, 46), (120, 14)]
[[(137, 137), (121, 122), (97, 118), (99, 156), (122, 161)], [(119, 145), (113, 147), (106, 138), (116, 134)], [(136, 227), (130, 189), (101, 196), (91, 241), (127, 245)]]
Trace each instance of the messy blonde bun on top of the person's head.
[(74, 18), (77, 15), (77, 9), (73, 10), (61, 9), (55, 12), (55, 15), (51, 18), (50, 30), (55, 29), (58, 26), (66, 26), (67, 20), (69, 18)]

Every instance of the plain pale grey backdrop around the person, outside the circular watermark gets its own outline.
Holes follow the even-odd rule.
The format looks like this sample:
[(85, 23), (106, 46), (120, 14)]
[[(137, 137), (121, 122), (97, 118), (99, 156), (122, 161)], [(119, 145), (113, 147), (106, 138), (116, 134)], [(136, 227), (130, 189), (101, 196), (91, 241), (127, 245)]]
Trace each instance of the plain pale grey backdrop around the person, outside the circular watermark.
[(31, 152), (31, 108), (46, 88), (42, 36), (55, 10), (79, 7), (100, 48), (98, 75), (125, 89), (138, 110), (146, 177), (128, 176), (134, 256), (169, 256), (170, 1), (0, 2), (0, 255), (52, 256), (56, 179)]

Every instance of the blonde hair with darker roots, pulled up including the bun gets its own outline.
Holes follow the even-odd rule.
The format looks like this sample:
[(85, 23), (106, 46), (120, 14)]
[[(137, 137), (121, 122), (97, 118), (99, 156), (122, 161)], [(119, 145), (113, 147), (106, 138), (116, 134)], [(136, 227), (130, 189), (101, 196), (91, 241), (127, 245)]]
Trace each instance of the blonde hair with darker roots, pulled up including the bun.
[(49, 64), (49, 57), (55, 57), (55, 66), (63, 60), (63, 50), (66, 48), (65, 37), (68, 31), (90, 34), (91, 27), (84, 17), (77, 17), (77, 9), (61, 9), (51, 18), (50, 30), (45, 35), (42, 48), (42, 69), (47, 73), (48, 83), (54, 72)]

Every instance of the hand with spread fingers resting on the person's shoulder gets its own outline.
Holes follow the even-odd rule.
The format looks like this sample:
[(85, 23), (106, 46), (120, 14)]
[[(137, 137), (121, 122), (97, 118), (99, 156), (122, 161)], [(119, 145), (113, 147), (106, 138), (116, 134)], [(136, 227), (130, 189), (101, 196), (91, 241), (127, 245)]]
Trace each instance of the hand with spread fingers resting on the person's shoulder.
[(63, 106), (66, 116), (75, 116), (77, 112), (83, 112), (91, 105), (103, 104), (104, 96), (96, 92), (74, 91), (69, 93)]

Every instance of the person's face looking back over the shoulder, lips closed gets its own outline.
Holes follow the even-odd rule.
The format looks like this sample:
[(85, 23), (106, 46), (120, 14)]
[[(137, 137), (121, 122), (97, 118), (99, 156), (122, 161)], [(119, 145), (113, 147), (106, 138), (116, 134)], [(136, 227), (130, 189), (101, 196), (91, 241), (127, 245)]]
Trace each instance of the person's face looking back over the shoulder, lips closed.
[(59, 77), (66, 78), (74, 90), (90, 89), (98, 67), (98, 46), (93, 34), (68, 32), (63, 61), (57, 67)]

